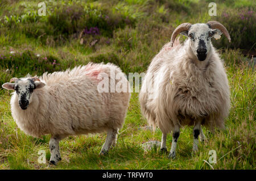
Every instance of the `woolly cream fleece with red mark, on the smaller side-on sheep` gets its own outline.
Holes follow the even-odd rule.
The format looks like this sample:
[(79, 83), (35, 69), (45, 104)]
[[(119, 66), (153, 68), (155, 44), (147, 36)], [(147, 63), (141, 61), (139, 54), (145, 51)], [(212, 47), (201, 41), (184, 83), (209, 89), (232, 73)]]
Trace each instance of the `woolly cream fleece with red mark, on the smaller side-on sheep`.
[(11, 113), (16, 124), (35, 137), (44, 134), (69, 136), (122, 128), (130, 99), (125, 74), (122, 73), (122, 81), (127, 84), (126, 92), (100, 93), (97, 90), (101, 81), (97, 79), (98, 74), (106, 73), (110, 79), (110, 68), (114, 68), (115, 74), (122, 73), (110, 63), (90, 63), (72, 70), (44, 73), (39, 78), (46, 86), (34, 90), (27, 110), (19, 108), (15, 92), (11, 97)]

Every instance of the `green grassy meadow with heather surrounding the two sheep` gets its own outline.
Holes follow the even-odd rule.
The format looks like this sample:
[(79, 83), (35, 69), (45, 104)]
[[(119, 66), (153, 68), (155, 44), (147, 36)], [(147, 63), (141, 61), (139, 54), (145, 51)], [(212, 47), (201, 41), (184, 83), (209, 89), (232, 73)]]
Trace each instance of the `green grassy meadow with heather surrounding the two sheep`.
[[(232, 107), (224, 131), (212, 134), (204, 128), (208, 140), (196, 154), (192, 128), (181, 129), (171, 160), (159, 148), (147, 153), (141, 148), (160, 141), (162, 133), (139, 129), (147, 121), (134, 92), (108, 155), (98, 155), (105, 133), (71, 136), (60, 142), (62, 160), (53, 166), (48, 163), (50, 136), (39, 139), (20, 131), (11, 116), (11, 91), (0, 88), (0, 169), (255, 169), (255, 1), (215, 1), (217, 16), (208, 14), (210, 0), (47, 0), (46, 16), (38, 15), (39, 2), (0, 1), (0, 85), (27, 73), (42, 75), (88, 62), (112, 62), (126, 74), (142, 73), (179, 24), (218, 20), (232, 38), (231, 43), (225, 36), (213, 40), (225, 62)], [(171, 141), (168, 136), (168, 151)], [(39, 150), (46, 151), (47, 163), (38, 163)], [(217, 163), (207, 163), (209, 150), (216, 150)]]

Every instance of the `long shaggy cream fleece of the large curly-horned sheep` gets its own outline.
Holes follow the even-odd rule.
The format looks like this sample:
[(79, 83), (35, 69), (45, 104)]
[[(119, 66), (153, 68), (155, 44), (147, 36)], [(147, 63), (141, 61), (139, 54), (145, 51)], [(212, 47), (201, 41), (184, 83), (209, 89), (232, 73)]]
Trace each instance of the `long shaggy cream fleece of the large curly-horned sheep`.
[[(230, 108), (228, 78), (222, 60), (213, 46), (207, 68), (199, 69), (192, 52), (176, 39), (153, 58), (142, 83), (139, 100), (142, 114), (149, 124), (159, 126), (163, 133), (175, 125), (193, 125), (203, 118), (207, 127), (224, 128), (224, 119)], [(197, 61), (198, 62), (198, 61)], [(156, 73), (152, 82), (154, 90), (148, 90), (150, 74)]]

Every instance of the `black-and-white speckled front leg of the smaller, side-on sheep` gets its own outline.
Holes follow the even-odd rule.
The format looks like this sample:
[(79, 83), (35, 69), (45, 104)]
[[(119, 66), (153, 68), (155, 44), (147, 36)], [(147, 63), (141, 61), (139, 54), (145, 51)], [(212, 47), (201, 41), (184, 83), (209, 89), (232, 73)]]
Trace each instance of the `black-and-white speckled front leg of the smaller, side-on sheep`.
[(51, 158), (50, 158), (50, 163), (53, 165), (56, 165), (57, 162), (61, 160), (60, 157), (60, 147), (59, 147), (59, 142), (60, 138), (57, 136), (52, 136), (51, 140), (49, 142), (49, 149), (51, 151)]

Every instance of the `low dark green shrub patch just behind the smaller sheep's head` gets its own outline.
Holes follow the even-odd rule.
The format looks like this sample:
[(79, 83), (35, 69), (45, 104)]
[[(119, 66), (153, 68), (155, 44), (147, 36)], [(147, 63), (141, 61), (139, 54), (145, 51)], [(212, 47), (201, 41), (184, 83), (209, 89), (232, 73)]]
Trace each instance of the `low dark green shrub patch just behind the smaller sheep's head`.
[(12, 77), (24, 77), (28, 73), (42, 75), (46, 71), (52, 73), (66, 69), (68, 65), (73, 66), (73, 61), (67, 64), (55, 56), (43, 56), (31, 50), (0, 54), (0, 85), (9, 82)]

